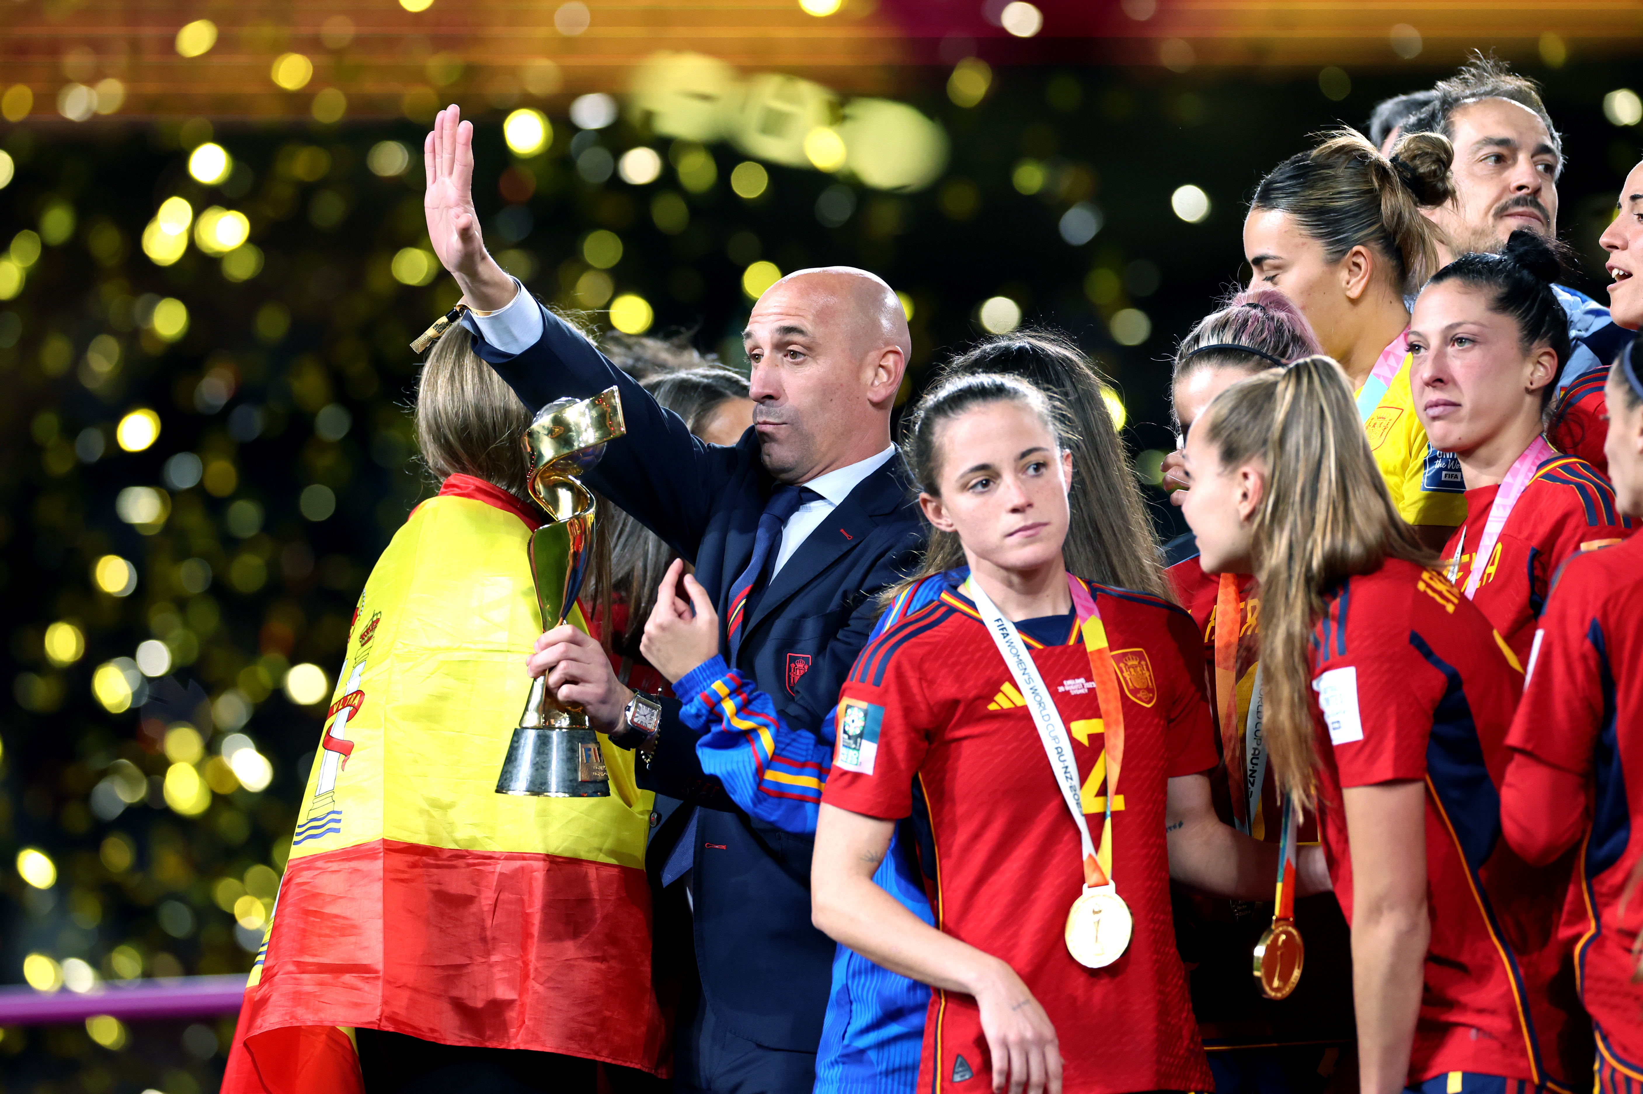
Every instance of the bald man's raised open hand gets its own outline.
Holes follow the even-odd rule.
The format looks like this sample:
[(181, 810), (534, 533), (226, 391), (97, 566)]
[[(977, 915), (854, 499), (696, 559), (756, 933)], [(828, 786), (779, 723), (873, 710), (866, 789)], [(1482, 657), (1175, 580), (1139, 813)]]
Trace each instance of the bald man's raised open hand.
[(481, 312), (503, 307), (516, 289), (480, 235), (473, 212), (473, 123), (462, 120), (458, 107), (434, 115), (434, 130), (422, 141), (422, 169), (427, 181), (422, 215), (440, 264), (462, 286), (470, 307)]

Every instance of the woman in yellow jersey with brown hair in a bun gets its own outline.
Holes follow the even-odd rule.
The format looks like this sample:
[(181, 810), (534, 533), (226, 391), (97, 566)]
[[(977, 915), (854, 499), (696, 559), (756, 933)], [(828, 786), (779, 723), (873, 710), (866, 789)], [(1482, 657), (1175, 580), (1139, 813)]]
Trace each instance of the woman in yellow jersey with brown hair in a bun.
[(1459, 468), (1415, 417), (1405, 299), (1438, 269), (1423, 210), (1454, 199), (1452, 159), (1438, 133), (1403, 136), (1388, 158), (1339, 130), (1262, 179), (1244, 218), (1249, 287), (1282, 289), (1341, 365), (1392, 503), (1429, 547), (1466, 506)]

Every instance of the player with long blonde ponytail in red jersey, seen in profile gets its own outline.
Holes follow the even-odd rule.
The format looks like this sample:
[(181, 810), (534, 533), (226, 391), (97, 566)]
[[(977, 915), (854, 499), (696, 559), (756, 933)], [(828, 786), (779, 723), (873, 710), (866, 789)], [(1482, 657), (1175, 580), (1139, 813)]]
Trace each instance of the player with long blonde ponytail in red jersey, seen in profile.
[(1520, 687), (1493, 629), (1400, 519), (1334, 361), (1227, 388), (1185, 463), (1204, 568), (1260, 581), (1262, 733), (1351, 925), (1362, 1091), (1543, 1083), (1546, 986), (1477, 884)]

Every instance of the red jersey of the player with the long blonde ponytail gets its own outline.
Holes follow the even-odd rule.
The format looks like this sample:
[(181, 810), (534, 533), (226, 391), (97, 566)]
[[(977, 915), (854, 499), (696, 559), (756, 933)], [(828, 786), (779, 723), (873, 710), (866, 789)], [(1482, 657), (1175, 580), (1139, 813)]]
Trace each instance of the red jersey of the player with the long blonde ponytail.
[[(1352, 918), (1344, 787), (1426, 782), (1431, 943), (1410, 1084), (1446, 1071), (1541, 1081), (1525, 984), (1479, 871), (1497, 853), (1505, 734), (1521, 678), (1443, 575), (1388, 558), (1324, 596), (1311, 650), (1318, 808)], [(1544, 994), (1543, 991), (1539, 994)]]

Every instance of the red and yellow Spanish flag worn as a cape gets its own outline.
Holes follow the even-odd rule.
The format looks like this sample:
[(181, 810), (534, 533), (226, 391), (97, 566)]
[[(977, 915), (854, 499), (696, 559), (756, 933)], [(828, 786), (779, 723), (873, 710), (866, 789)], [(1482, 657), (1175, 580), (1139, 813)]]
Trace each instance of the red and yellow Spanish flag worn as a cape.
[(453, 475), (376, 562), (225, 1092), (360, 1091), (353, 1027), (665, 1074), (633, 752), (600, 739), (608, 798), (496, 793), (541, 634), (539, 521)]

